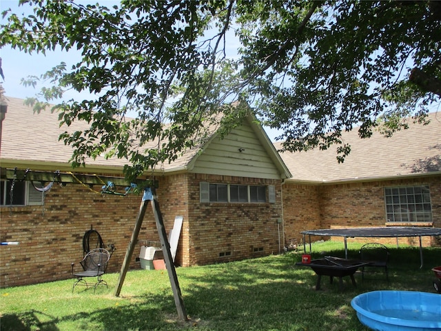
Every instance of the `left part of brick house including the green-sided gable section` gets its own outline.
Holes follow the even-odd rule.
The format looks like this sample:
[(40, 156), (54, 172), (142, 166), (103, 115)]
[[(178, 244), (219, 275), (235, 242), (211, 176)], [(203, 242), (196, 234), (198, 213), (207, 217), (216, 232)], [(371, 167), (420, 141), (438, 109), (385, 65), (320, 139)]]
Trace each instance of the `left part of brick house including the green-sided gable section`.
[[(81, 125), (74, 123), (79, 127), (72, 130)], [(23, 100), (8, 98), (1, 168), (54, 172), (54, 181), (57, 171), (68, 173), (72, 183), (54, 184), (43, 194), (34, 190), (36, 183), (3, 176), (0, 237), (19, 245), (2, 246), (1, 287), (71, 277), (70, 264), (81, 260), (82, 237), (91, 227), (105, 244), (116, 247), (108, 271), (121, 269), (141, 196), (101, 194), (104, 181), (81, 181), (80, 174), (120, 180), (124, 161), (98, 157), (85, 168), (70, 168), (72, 149), (58, 141), (64, 130), (57, 113), (34, 114)], [(281, 185), (288, 177), (280, 155), (251, 116), (224, 139), (213, 134), (201, 150), (158, 166), (154, 179), (166, 230), (176, 215), (184, 219), (176, 263), (203, 265), (283, 250)], [(146, 241), (158, 241), (151, 209), (139, 234), (140, 246)], [(135, 256), (131, 267), (139, 268)]]

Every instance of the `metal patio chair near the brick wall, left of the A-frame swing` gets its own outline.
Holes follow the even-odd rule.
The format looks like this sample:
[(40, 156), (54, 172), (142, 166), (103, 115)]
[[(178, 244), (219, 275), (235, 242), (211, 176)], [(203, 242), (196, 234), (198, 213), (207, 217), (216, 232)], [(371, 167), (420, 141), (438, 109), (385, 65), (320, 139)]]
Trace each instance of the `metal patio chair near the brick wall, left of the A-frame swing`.
[[(76, 277), (76, 281), (72, 286), (72, 293), (77, 285), (85, 286), (86, 288), (93, 287), (94, 292), (99, 285), (105, 285), (107, 283), (102, 279), (105, 270), (107, 269), (107, 263), (110, 259), (110, 253), (104, 248), (95, 248), (90, 250), (85, 255), (83, 261), (80, 262), (83, 270), (74, 272), (74, 263), (72, 263), (72, 274)], [(86, 281), (90, 277), (96, 277), (96, 281)]]

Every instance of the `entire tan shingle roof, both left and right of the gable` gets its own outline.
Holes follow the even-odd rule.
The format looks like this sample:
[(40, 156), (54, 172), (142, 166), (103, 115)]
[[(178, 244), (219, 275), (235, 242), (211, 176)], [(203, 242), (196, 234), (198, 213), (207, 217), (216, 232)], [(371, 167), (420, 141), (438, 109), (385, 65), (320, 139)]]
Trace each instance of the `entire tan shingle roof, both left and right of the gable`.
[[(1, 166), (17, 163), (54, 165), (59, 170), (70, 168), (72, 148), (58, 137), (65, 127), (59, 128), (58, 114), (44, 111), (34, 114), (23, 104), (23, 99), (8, 97), (8, 112), (3, 121), (1, 137)], [(409, 122), (408, 130), (384, 138), (374, 132), (369, 139), (360, 139), (358, 130), (344, 132), (343, 141), (351, 145), (351, 153), (344, 163), (338, 163), (336, 147), (308, 152), (282, 152), (280, 157), (292, 174), (289, 181), (312, 183), (380, 179), (421, 173), (441, 174), (441, 114), (429, 114), (427, 126)], [(74, 122), (70, 130), (84, 130), (87, 123)], [(262, 130), (263, 131), (263, 130)], [(265, 134), (261, 134), (262, 136)], [(265, 135), (266, 137), (266, 135)], [(281, 143), (275, 143), (280, 149)], [(197, 150), (187, 150), (173, 163), (159, 166), (164, 171), (183, 169), (197, 157)], [(6, 163), (6, 164), (5, 164)], [(88, 160), (90, 171), (114, 170), (121, 172), (127, 160), (98, 157)], [(92, 169), (92, 170), (91, 170)], [(95, 170), (96, 169), (96, 170)]]

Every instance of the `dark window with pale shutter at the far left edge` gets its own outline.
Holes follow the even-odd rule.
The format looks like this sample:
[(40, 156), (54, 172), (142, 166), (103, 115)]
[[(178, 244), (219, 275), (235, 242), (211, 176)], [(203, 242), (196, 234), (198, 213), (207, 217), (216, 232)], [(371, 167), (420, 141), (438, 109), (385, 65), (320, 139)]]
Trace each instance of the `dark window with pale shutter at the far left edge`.
[[(39, 182), (34, 182), (38, 188), (43, 185)], [(0, 205), (42, 205), (43, 195), (41, 192), (34, 190), (32, 183), (29, 181), (15, 181), (14, 189), (12, 190), (11, 201), (11, 186), (12, 180), (0, 181)]]

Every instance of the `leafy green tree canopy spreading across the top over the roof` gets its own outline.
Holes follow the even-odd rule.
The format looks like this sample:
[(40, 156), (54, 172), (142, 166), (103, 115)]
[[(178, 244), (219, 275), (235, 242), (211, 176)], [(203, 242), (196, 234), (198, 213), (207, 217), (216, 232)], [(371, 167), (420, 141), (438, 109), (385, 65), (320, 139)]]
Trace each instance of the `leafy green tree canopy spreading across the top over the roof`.
[[(360, 124), (360, 137), (369, 137), (381, 121), (390, 134), (404, 115), (424, 119), (441, 95), (437, 1), (22, 2), (34, 14), (3, 12), (0, 46), (81, 50), (72, 68), (43, 74), (57, 83), (43, 97), (68, 88), (97, 96), (57, 105), (62, 123), (90, 123), (61, 137), (76, 165), (107, 152), (127, 158), (136, 176), (203, 141), (219, 112), (225, 132), (238, 125), (246, 107), (236, 100), (283, 129), (285, 150), (337, 143), (343, 161), (343, 130)], [(225, 57), (229, 30), (243, 45), (237, 61)], [(138, 117), (127, 119), (129, 111)]]

